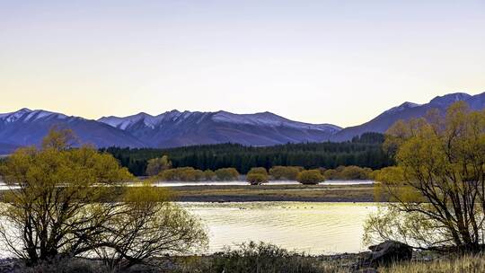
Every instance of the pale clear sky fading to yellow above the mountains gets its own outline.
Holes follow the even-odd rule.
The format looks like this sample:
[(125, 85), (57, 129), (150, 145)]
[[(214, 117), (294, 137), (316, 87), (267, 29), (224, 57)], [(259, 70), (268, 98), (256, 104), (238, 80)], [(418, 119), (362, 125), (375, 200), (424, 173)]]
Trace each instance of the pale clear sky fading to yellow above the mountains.
[(0, 112), (358, 125), (485, 92), (485, 1), (4, 1)]

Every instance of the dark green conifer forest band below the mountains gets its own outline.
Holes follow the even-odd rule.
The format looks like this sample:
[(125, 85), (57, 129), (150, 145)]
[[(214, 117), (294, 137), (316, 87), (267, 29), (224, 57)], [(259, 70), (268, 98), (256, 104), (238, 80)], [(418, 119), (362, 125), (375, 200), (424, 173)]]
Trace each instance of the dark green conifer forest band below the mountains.
[(384, 136), (367, 133), (342, 143), (304, 143), (274, 146), (244, 146), (239, 144), (192, 145), (171, 149), (154, 148), (103, 148), (116, 157), (133, 174), (145, 175), (149, 159), (169, 156), (172, 167), (194, 167), (199, 170), (216, 170), (234, 167), (246, 173), (253, 167), (302, 166), (305, 169), (356, 165), (381, 169), (392, 165), (392, 158), (382, 149)]

